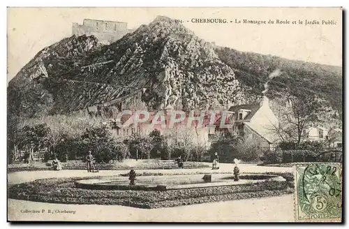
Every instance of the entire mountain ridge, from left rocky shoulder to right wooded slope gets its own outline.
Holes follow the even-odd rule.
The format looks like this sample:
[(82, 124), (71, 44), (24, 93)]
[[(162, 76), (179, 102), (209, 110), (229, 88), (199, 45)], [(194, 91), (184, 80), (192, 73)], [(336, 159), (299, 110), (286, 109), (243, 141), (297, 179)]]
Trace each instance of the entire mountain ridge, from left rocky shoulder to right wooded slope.
[[(269, 60), (269, 56), (216, 47), (182, 24), (157, 17), (110, 45), (98, 45), (94, 36), (72, 36), (46, 47), (9, 82), (8, 112), (34, 117), (168, 106), (191, 110), (209, 108), (208, 104), (227, 108), (228, 103), (260, 98), (267, 74), (285, 67), (280, 64), (285, 60), (278, 58)], [(310, 65), (288, 63), (281, 69), (284, 73)], [(329, 77), (332, 82), (327, 86), (337, 89), (341, 73), (319, 66), (311, 65), (313, 70), (321, 69), (309, 70), (311, 79), (319, 77), (321, 82)], [(309, 80), (292, 76), (286, 77), (289, 82)], [(269, 95), (286, 88), (281, 77), (279, 81), (271, 84)], [(274, 87), (276, 84), (278, 87)], [(316, 90), (313, 88), (314, 93), (318, 93)], [(323, 89), (320, 95), (333, 105), (341, 91), (330, 91)]]

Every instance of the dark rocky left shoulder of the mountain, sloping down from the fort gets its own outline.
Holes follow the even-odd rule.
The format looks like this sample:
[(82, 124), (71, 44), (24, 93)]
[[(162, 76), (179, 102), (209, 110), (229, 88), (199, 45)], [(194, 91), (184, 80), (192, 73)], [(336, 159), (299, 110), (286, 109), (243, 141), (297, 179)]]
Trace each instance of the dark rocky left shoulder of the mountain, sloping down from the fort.
[(82, 57), (100, 47), (93, 36), (72, 36), (38, 52), (8, 83), (8, 115), (33, 117), (49, 113), (57, 100), (50, 82), (64, 78)]

